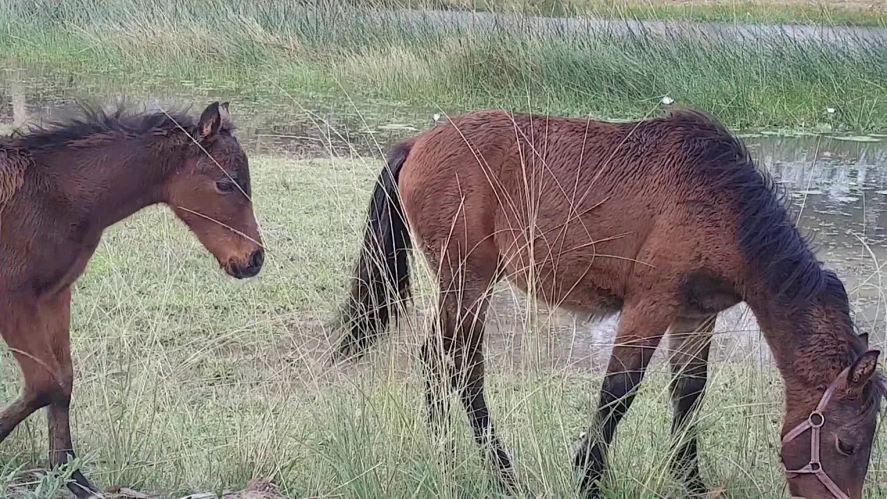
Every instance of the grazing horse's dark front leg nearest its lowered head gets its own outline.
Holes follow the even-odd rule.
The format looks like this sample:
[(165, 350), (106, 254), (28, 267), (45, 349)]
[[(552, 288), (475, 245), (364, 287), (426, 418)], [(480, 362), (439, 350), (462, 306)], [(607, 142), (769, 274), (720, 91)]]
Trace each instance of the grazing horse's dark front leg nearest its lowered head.
[(704, 495), (705, 487), (699, 473), (694, 416), (702, 404), (708, 379), (711, 335), (716, 315), (703, 320), (679, 320), (671, 325), (671, 405), (674, 411), (671, 434), (679, 443), (672, 457), (671, 471), (687, 482), (692, 495)]

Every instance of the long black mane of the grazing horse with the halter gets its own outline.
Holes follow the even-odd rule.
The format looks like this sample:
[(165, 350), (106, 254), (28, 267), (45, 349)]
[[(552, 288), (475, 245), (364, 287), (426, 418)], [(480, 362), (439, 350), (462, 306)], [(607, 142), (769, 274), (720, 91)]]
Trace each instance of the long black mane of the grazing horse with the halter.
[[(811, 234), (802, 235), (790, 217), (787, 189), (757, 168), (742, 140), (710, 115), (679, 109), (665, 120), (685, 129), (685, 152), (702, 165), (706, 185), (736, 203), (739, 245), (749, 265), (763, 277), (770, 298), (787, 310), (821, 300), (840, 316), (850, 335), (847, 365), (858, 359), (868, 345), (856, 334), (847, 290), (836, 273), (816, 258)], [(865, 396), (866, 410), (878, 410), (887, 396), (887, 377), (875, 373)]]

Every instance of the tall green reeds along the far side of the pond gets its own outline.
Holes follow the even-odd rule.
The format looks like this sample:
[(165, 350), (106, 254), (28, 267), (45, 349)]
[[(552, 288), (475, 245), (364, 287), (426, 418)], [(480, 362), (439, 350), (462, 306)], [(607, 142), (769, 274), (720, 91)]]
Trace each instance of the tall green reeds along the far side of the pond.
[[(232, 82), (448, 110), (508, 107), (632, 119), (663, 96), (737, 128), (887, 130), (887, 41), (677, 31), (621, 36), (530, 18), (465, 23), (335, 0), (12, 0), (0, 53), (132, 83)], [(834, 108), (828, 114), (827, 108)]]

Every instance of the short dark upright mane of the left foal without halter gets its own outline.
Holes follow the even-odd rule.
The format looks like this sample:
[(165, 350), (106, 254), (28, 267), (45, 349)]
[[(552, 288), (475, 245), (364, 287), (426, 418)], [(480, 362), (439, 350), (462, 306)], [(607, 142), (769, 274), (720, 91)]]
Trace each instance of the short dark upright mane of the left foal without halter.
[(137, 110), (118, 102), (114, 108), (107, 110), (82, 101), (77, 101), (77, 107), (78, 112), (14, 131), (11, 139), (18, 147), (25, 149), (53, 150), (88, 139), (168, 135), (182, 129), (192, 136), (196, 132), (197, 120), (188, 115), (187, 109), (166, 109), (166, 112)]

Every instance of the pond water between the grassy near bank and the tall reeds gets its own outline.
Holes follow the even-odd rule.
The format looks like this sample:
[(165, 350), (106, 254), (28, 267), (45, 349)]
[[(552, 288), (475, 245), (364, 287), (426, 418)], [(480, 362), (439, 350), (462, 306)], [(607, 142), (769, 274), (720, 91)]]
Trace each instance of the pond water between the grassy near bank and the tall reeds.
[[(90, 95), (113, 97), (128, 89), (110, 78), (98, 85), (78, 75), (46, 75), (33, 70), (6, 70), (0, 88), (0, 123), (20, 126), (40, 122)], [(74, 84), (75, 79), (78, 79)], [(392, 104), (353, 102), (321, 96), (237, 93), (224, 83), (192, 85), (187, 96), (153, 93), (149, 106), (186, 101), (195, 107), (211, 99), (231, 99), (239, 134), (250, 154), (302, 157), (367, 155), (381, 157), (398, 139), (424, 130), (443, 109), (404, 108)], [(132, 93), (129, 89), (126, 93)], [(136, 92), (137, 93), (137, 92)], [(798, 223), (814, 235), (820, 259), (836, 269), (851, 292), (860, 329), (875, 345), (885, 341), (882, 282), (887, 261), (887, 138), (858, 142), (818, 136), (761, 136), (745, 139), (760, 166), (770, 170), (789, 193)], [(519, 292), (503, 286), (493, 300), (489, 350), (493, 362), (526, 368), (555, 366), (600, 368), (608, 358), (616, 318), (596, 324), (577, 323), (565, 313), (531, 317)], [(528, 325), (530, 325), (528, 327)], [(769, 352), (757, 322), (745, 305), (718, 320), (714, 356), (719, 360), (768, 362)]]

